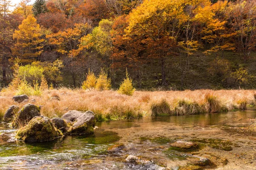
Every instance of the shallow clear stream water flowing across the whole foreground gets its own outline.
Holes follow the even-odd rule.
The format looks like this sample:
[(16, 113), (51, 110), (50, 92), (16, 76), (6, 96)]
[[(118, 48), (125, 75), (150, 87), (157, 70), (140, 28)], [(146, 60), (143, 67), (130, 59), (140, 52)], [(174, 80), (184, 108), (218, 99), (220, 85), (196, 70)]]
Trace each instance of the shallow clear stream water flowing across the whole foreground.
[[(0, 169), (150, 170), (125, 161), (134, 155), (174, 170), (203, 158), (211, 163), (201, 169), (256, 170), (256, 137), (236, 130), (255, 117), (255, 111), (237, 111), (101, 122), (93, 135), (44, 143), (16, 141), (15, 129), (1, 123)], [(170, 145), (177, 141), (200, 147), (177, 150)]]

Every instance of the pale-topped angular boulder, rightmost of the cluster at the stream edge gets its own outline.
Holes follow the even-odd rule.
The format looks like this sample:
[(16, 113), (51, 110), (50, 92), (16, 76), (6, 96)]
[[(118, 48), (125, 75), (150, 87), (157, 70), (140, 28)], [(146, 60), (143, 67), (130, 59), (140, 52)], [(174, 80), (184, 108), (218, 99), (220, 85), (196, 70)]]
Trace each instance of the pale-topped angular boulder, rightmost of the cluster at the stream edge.
[(92, 111), (86, 111), (85, 113), (80, 111), (69, 111), (61, 118), (72, 124), (67, 133), (91, 134), (94, 132), (93, 127), (95, 127), (96, 119), (95, 114)]

